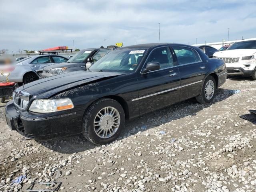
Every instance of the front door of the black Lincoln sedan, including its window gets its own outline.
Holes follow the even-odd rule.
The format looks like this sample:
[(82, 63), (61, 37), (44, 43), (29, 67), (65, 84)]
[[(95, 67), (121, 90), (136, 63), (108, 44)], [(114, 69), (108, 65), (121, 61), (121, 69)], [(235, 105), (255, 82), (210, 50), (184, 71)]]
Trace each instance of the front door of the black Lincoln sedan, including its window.
[(158, 62), (160, 70), (138, 77), (140, 115), (178, 102), (180, 96), (180, 73), (168, 46), (152, 50), (142, 71), (149, 62)]

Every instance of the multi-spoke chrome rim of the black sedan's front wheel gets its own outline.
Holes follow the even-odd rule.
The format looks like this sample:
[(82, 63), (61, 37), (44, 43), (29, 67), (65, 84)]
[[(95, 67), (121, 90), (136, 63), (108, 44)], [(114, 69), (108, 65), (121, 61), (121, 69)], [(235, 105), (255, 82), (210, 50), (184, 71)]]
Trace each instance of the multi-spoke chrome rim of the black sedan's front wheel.
[(120, 114), (114, 107), (105, 107), (100, 110), (94, 119), (94, 132), (100, 138), (110, 138), (120, 125)]

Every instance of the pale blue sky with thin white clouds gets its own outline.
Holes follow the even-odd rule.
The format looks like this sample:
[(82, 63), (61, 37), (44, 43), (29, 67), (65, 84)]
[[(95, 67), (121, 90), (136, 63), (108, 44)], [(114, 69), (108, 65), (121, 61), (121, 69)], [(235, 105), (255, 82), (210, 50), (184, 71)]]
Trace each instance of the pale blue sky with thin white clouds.
[(256, 38), (256, 0), (0, 0), (0, 50)]

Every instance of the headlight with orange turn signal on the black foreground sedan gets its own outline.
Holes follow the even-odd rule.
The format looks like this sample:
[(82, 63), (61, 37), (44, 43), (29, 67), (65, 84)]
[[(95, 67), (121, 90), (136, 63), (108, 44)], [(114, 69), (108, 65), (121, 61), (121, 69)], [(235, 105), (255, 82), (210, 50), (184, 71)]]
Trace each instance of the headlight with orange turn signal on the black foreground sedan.
[(51, 113), (74, 108), (69, 98), (65, 99), (36, 99), (32, 102), (29, 110), (36, 113)]

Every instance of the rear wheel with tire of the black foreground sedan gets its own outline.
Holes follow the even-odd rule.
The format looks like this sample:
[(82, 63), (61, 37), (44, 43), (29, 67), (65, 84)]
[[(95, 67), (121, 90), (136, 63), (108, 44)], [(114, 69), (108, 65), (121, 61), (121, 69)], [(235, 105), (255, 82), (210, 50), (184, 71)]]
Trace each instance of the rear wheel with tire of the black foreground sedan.
[[(206, 90), (207, 87), (209, 87), (208, 91), (210, 92), (210, 93), (208, 92), (208, 94)], [(204, 104), (210, 103), (214, 100), (215, 92), (216, 92), (216, 81), (213, 78), (213, 76), (208, 76), (206, 80), (204, 80), (201, 93), (200, 95), (196, 96), (196, 100), (199, 103), (204, 103)]]

